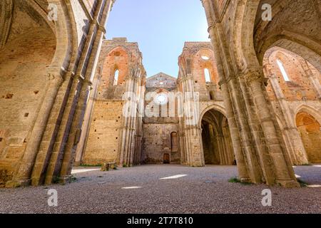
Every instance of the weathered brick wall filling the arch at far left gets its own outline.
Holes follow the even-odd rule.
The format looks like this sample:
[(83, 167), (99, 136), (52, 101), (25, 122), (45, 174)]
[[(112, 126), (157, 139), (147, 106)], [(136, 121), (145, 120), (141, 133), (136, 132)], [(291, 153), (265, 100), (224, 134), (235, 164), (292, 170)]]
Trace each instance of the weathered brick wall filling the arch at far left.
[(7, 164), (7, 172), (14, 172), (24, 153), (46, 92), (45, 68), (56, 48), (54, 34), (48, 31), (29, 31), (26, 37), (16, 38), (1, 51), (0, 162)]

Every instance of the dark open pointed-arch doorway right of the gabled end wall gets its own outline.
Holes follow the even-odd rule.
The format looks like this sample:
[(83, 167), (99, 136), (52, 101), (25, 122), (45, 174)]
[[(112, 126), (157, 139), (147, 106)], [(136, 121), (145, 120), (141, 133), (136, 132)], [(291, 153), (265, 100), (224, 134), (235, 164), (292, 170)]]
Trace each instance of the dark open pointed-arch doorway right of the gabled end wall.
[(218, 110), (208, 110), (202, 118), (205, 165), (235, 165), (228, 120)]

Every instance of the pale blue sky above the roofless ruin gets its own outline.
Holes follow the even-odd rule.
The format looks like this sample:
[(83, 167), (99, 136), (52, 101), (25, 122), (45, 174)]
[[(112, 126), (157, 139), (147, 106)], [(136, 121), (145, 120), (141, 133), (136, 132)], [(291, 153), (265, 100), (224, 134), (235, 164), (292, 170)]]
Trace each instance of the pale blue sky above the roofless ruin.
[(106, 38), (138, 42), (147, 76), (178, 76), (185, 41), (209, 41), (200, 0), (117, 0), (106, 25)]

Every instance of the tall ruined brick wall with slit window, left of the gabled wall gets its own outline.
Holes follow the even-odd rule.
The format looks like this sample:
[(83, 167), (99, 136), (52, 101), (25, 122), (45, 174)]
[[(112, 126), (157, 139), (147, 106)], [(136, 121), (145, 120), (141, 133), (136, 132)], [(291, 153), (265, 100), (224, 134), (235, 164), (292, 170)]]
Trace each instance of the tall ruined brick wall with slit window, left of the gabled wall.
[(126, 117), (123, 110), (128, 102), (126, 93), (143, 99), (146, 76), (138, 44), (126, 38), (103, 41), (96, 76), (92, 113), (85, 119), (90, 122), (88, 138), (83, 139), (85, 147), (77, 151), (76, 162), (136, 165), (141, 161), (142, 118)]

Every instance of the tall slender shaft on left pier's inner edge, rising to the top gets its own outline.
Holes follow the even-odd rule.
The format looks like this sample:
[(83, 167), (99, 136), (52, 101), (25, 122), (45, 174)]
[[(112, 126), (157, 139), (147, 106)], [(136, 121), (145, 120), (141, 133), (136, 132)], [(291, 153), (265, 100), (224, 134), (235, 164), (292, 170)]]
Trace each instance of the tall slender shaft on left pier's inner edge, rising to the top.
[[(91, 75), (93, 71), (96, 71), (96, 63), (99, 56), (98, 49), (101, 46), (101, 40), (106, 33), (103, 25), (106, 23), (109, 11), (111, 11), (112, 4), (112, 0), (98, 0), (95, 15), (93, 16), (93, 20), (91, 21), (91, 26), (88, 32), (88, 34), (91, 34), (91, 36), (88, 36), (84, 48), (84, 50), (86, 51), (81, 56), (80, 67), (78, 68), (76, 74), (78, 78), (80, 78), (78, 84), (78, 90), (80, 90), (80, 93), (79, 97), (73, 100), (73, 102), (76, 102), (76, 110), (74, 110), (73, 123), (71, 125), (71, 130), (66, 144), (62, 143), (63, 145), (61, 146), (61, 151), (64, 152), (62, 164), (59, 161), (61, 160), (61, 158), (58, 158), (58, 162), (54, 169), (54, 176), (57, 176), (60, 172), (60, 180), (62, 182), (66, 181), (66, 179), (68, 179), (69, 175), (71, 174), (73, 160), (76, 152), (76, 145), (78, 144), (79, 138), (81, 136), (81, 125), (83, 121), (84, 111), (87, 105), (87, 99), (90, 89), (89, 86), (91, 86), (92, 84)], [(90, 48), (90, 46), (92, 46), (92, 48)], [(89, 58), (88, 55), (90, 56)], [(88, 58), (88, 63), (86, 63), (86, 58)], [(82, 76), (83, 79), (81, 78)]]

